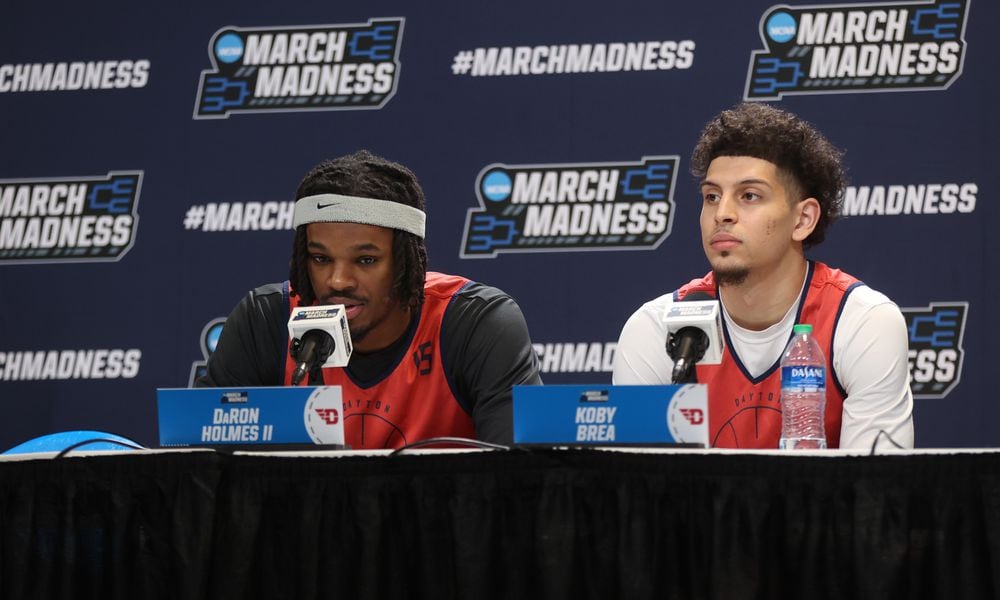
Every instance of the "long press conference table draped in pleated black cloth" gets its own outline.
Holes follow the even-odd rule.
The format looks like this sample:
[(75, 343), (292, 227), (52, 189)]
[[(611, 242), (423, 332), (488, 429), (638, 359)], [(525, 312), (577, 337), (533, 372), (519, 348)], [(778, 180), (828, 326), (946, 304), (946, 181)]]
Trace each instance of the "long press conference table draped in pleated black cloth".
[(1000, 453), (0, 461), (0, 598), (996, 598)]

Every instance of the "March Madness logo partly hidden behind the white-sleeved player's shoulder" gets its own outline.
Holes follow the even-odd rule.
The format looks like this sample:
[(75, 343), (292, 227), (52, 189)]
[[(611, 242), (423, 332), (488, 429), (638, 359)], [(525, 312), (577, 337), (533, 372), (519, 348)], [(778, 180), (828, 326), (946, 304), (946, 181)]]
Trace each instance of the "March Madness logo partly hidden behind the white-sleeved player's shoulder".
[(914, 398), (944, 398), (962, 375), (962, 338), (968, 302), (931, 302), (904, 308), (910, 337), (910, 390)]

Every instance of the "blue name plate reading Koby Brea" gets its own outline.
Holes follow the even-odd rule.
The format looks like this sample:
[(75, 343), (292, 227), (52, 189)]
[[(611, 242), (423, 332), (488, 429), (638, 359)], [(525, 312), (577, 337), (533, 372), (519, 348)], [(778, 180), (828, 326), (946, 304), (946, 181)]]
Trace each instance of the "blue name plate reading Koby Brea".
[(514, 387), (514, 443), (708, 446), (708, 388), (685, 385)]

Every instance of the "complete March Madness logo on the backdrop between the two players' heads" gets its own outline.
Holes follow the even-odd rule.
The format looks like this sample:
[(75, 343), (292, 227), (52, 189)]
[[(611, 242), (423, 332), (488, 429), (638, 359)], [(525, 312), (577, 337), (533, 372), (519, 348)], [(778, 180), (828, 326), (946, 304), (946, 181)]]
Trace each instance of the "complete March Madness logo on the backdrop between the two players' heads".
[(652, 250), (670, 235), (677, 156), (638, 162), (492, 164), (479, 173), (462, 258), (501, 252)]

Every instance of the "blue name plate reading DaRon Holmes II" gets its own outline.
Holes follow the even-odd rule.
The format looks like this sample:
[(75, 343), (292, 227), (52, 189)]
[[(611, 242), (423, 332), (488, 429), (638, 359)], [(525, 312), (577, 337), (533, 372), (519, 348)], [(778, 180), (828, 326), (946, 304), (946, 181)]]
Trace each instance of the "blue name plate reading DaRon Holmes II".
[(156, 390), (161, 446), (344, 445), (340, 386)]

